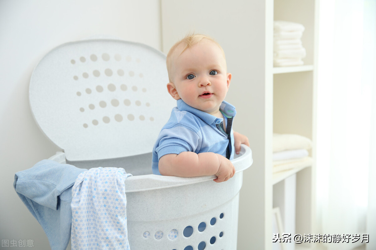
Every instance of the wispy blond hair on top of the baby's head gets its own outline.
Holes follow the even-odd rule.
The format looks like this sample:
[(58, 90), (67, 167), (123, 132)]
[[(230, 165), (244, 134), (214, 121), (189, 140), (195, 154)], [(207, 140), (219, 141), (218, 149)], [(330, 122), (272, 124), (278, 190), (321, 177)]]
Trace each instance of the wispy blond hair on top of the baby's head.
[(175, 53), (176, 48), (179, 47), (180, 44), (184, 46), (183, 50), (179, 54), (181, 55), (186, 49), (192, 48), (194, 45), (199, 44), (201, 41), (209, 41), (209, 42), (213, 42), (214, 44), (216, 44), (221, 49), (223, 53), (223, 58), (225, 58), (223, 48), (213, 38), (206, 36), (206, 35), (201, 35), (201, 34), (187, 35), (180, 41), (176, 42), (176, 44), (174, 44), (170, 48), (170, 51), (168, 51), (167, 59), (166, 59), (166, 66), (167, 66), (167, 72), (168, 72), (168, 80), (170, 82), (171, 82), (171, 76), (172, 76), (171, 68), (173, 65), (174, 56), (176, 56), (176, 53)]

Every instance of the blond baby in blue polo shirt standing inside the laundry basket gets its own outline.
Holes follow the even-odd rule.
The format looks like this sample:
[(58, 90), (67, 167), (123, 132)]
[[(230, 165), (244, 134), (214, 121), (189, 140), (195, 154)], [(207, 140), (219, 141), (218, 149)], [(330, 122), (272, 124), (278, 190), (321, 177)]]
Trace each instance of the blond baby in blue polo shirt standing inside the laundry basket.
[(232, 130), (236, 111), (224, 101), (231, 74), (223, 49), (208, 36), (186, 36), (168, 52), (167, 71), (177, 107), (154, 145), (153, 173), (227, 181), (235, 173), (234, 149), (239, 154), (240, 144), (249, 143)]

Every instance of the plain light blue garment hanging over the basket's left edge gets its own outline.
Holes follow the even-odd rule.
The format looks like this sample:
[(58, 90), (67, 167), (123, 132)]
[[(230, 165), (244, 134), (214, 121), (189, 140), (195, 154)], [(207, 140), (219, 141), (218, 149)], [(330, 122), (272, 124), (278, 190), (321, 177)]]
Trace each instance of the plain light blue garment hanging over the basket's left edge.
[(30, 169), (15, 173), (13, 187), (41, 224), (52, 250), (65, 250), (68, 246), (72, 187), (84, 171), (87, 169), (42, 160)]

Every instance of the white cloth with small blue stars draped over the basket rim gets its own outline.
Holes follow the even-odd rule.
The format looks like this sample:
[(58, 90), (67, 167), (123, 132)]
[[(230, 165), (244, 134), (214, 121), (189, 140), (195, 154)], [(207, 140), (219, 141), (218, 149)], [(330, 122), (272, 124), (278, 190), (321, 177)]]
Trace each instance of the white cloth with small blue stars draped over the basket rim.
[(80, 173), (72, 188), (72, 250), (129, 250), (122, 168), (97, 167)]

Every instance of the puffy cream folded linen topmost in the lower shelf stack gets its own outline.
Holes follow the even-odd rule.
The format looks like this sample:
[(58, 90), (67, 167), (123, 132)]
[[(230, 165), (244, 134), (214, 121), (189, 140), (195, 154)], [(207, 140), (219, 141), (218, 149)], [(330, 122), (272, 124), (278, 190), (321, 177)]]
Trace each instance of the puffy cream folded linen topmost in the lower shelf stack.
[(273, 152), (293, 149), (311, 149), (312, 141), (298, 134), (273, 134)]

